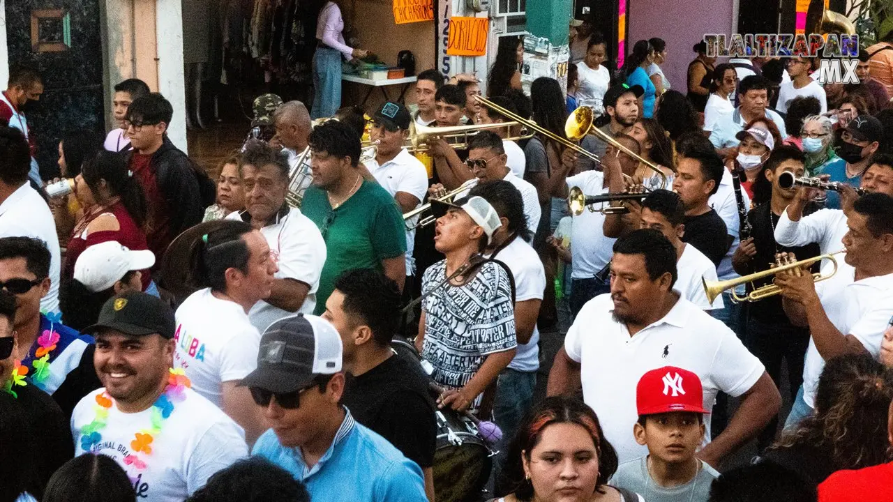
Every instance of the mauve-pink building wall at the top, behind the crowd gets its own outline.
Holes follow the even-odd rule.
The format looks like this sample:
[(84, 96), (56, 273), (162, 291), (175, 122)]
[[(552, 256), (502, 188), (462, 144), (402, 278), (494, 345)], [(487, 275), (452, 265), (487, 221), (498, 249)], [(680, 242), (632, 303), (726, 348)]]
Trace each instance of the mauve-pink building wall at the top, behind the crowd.
[[(686, 92), (689, 63), (695, 57), (691, 46), (705, 33), (734, 33), (732, 10), (738, 0), (630, 0), (627, 16), (630, 33), (627, 47), (643, 38), (663, 38), (667, 43), (667, 61), (661, 68), (673, 89)], [(737, 24), (737, 23), (736, 23)]]

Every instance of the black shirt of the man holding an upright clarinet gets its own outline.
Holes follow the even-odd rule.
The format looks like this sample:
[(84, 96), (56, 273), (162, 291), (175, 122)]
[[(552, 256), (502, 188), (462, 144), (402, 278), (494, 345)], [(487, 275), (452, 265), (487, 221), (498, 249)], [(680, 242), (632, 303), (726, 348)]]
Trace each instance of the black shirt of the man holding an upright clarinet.
[[(768, 270), (770, 264), (775, 263), (775, 254), (780, 252), (794, 253), (797, 260), (804, 260), (819, 255), (818, 244), (808, 244), (803, 247), (784, 247), (779, 246), (775, 242), (775, 226), (778, 225), (780, 216), (772, 213), (771, 205), (767, 202), (757, 205), (754, 209), (747, 213), (747, 221), (753, 230), (754, 246), (756, 247), (756, 255), (750, 261), (750, 272), (762, 272)], [(812, 213), (809, 211), (808, 213)], [(772, 221), (770, 221), (770, 214)], [(818, 272), (819, 264), (815, 264), (813, 272)], [(753, 287), (748, 284), (747, 291), (750, 292), (754, 287), (759, 288), (772, 283), (772, 276), (763, 280), (755, 280)], [(784, 313), (781, 306), (781, 296), (775, 295), (760, 300), (759, 303), (751, 305), (750, 315), (757, 321), (767, 324), (780, 324), (781, 326), (791, 326), (788, 315)]]

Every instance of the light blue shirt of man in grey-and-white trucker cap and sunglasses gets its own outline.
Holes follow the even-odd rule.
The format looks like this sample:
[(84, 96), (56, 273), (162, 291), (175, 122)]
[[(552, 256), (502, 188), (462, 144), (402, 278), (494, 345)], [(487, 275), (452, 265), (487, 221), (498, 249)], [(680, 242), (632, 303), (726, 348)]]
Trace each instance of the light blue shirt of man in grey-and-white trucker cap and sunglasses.
[(251, 454), (263, 456), (304, 483), (313, 500), (427, 502), (418, 464), (387, 439), (356, 423), (345, 408), (344, 422), (320, 461), (308, 467), (301, 448), (283, 447), (266, 431)]

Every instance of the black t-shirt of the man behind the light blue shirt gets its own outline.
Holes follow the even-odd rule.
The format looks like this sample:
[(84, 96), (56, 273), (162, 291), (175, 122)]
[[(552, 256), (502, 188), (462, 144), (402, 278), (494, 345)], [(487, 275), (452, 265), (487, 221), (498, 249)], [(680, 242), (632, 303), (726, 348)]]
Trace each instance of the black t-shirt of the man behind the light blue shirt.
[(438, 425), (419, 368), (391, 356), (358, 377), (348, 376), (341, 403), (422, 469), (434, 464)]

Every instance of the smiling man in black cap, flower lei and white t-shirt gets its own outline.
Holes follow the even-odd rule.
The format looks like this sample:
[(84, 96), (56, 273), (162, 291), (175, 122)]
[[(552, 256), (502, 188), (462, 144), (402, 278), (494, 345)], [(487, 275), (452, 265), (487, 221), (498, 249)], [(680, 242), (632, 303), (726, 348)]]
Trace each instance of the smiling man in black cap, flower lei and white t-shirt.
[(71, 415), (75, 455), (112, 457), (138, 499), (179, 502), (248, 454), (241, 428), (171, 369), (174, 314), (162, 300), (138, 291), (111, 297), (85, 331), (96, 333), (104, 387)]

